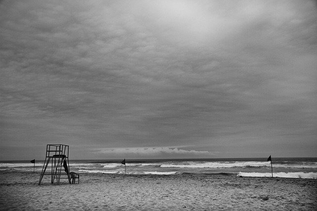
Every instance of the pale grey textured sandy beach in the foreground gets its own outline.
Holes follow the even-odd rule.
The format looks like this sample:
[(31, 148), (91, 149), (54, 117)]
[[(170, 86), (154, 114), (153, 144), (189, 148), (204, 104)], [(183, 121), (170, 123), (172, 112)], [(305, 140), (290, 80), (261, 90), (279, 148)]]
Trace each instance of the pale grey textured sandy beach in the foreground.
[(1, 210), (317, 210), (317, 180), (221, 175), (81, 174), (51, 184), (0, 172)]

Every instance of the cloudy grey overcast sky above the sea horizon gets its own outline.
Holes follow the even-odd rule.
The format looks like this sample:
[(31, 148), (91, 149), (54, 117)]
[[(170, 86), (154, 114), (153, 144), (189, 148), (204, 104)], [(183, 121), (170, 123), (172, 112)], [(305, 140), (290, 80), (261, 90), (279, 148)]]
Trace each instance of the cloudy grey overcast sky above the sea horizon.
[(310, 0), (0, 2), (0, 160), (317, 157)]

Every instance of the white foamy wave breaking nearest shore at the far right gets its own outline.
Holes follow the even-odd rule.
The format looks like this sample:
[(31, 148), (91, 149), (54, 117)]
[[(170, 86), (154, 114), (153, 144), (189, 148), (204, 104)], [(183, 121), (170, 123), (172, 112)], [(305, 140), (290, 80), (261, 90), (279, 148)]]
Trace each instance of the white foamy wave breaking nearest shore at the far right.
[[(259, 172), (239, 172), (237, 176), (245, 177), (271, 177), (271, 173), (259, 173)], [(284, 177), (284, 178), (307, 178), (317, 179), (317, 172), (276, 172), (273, 173), (273, 177)]]

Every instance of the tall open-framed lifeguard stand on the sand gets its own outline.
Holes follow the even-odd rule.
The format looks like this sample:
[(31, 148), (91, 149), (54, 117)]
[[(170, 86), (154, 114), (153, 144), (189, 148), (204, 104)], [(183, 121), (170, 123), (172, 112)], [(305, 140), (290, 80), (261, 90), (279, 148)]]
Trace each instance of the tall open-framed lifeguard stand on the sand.
[[(68, 145), (48, 144), (46, 146), (46, 157), (45, 157), (42, 173), (40, 176), (39, 185), (41, 184), (45, 171), (51, 160), (52, 160), (52, 171), (51, 173), (47, 173), (51, 175), (51, 182), (54, 183), (56, 179), (56, 183), (58, 185), (60, 179), (68, 179), (69, 184), (71, 184), (70, 175), (69, 175), (68, 152), (69, 152)], [(65, 175), (67, 177), (60, 177), (61, 175)]]

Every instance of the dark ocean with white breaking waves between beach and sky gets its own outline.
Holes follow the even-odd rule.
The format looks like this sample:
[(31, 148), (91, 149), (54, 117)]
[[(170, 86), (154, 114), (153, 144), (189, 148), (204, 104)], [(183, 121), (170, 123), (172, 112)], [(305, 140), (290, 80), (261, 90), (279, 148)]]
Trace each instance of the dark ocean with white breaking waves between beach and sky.
[[(123, 160), (123, 159), (122, 159)], [(267, 158), (72, 160), (69, 169), (92, 174), (206, 174), (271, 177)], [(41, 172), (44, 160), (0, 161), (0, 171)], [(317, 179), (317, 158), (272, 158), (273, 177)], [(34, 169), (33, 169), (34, 168)], [(50, 169), (50, 166), (48, 167)]]

